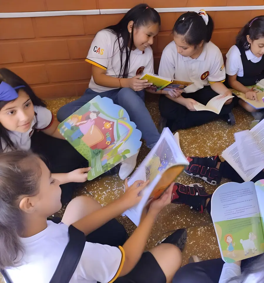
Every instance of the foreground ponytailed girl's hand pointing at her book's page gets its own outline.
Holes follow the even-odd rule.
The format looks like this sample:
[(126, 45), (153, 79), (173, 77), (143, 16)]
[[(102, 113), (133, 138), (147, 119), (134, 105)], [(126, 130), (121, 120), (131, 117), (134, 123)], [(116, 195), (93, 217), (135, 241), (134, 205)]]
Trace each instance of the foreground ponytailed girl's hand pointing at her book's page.
[(142, 198), (140, 192), (148, 185), (149, 181), (136, 181), (132, 186), (128, 187), (127, 179), (125, 180), (125, 193), (119, 198), (124, 205), (124, 210), (138, 204)]

